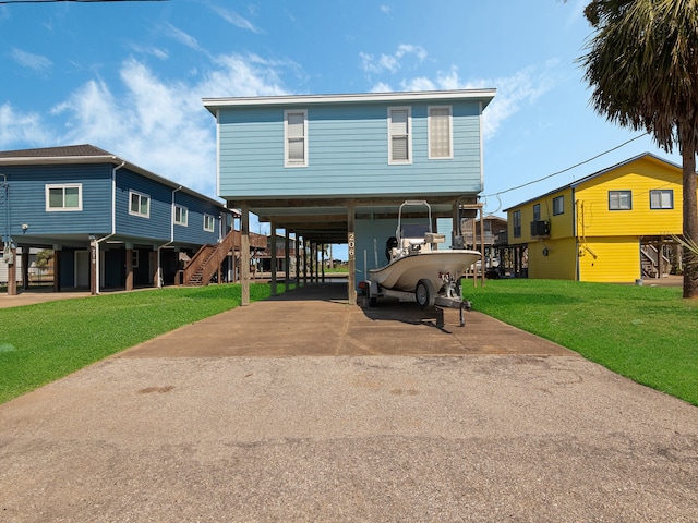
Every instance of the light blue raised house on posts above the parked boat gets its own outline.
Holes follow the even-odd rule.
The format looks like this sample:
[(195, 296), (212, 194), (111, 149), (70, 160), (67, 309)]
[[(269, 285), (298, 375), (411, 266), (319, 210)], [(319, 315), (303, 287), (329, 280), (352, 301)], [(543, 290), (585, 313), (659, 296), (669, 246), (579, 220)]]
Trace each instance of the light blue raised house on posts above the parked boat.
[(385, 263), (405, 199), (426, 199), (434, 222), (450, 223), (476, 204), (494, 93), (204, 99), (217, 122), (218, 195), (243, 221), (251, 211), (311, 245), (348, 243), (351, 301), (357, 280)]

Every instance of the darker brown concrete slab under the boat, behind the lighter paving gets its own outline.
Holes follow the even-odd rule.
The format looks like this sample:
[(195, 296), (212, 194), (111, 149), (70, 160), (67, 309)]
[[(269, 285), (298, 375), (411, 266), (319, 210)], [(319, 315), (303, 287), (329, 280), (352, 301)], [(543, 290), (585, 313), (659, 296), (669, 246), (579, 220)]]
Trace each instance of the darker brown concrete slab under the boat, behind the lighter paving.
[(348, 305), (346, 284), (316, 283), (189, 325), (120, 357), (358, 356), (576, 353), (477, 312), (416, 304)]

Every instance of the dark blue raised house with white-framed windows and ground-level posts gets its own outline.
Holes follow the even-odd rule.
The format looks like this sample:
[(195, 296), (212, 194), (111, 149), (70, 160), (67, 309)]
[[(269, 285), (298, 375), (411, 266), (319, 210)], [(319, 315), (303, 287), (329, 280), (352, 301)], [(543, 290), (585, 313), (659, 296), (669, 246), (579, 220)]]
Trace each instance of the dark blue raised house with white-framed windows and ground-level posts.
[(92, 145), (0, 151), (0, 184), (4, 262), (52, 248), (57, 291), (173, 283), (231, 223), (221, 203)]

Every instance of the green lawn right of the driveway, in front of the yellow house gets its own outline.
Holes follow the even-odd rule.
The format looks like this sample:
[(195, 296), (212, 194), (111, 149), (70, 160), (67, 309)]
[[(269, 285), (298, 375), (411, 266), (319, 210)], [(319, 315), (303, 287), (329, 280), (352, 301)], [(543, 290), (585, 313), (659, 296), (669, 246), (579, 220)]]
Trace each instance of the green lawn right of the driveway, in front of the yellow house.
[(464, 284), (476, 311), (698, 405), (698, 301), (677, 288), (562, 280)]

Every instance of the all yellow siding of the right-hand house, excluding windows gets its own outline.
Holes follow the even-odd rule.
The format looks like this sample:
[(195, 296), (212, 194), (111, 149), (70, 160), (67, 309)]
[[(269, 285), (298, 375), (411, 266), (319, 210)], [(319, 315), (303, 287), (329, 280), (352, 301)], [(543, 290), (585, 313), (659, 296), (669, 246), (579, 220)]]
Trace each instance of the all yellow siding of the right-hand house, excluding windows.
[[(610, 210), (610, 191), (630, 191), (631, 208)], [(672, 191), (673, 208), (651, 209), (651, 191)], [(558, 196), (564, 198), (564, 214), (553, 216), (553, 199)], [(530, 235), (537, 204), (540, 219), (550, 221), (550, 238)], [(521, 212), (519, 238), (514, 236), (516, 211)], [(529, 278), (634, 282), (641, 278), (640, 238), (682, 233), (682, 170), (643, 156), (507, 212), (509, 244), (528, 245)]]

